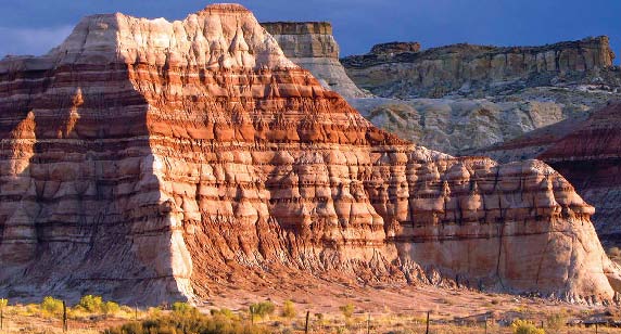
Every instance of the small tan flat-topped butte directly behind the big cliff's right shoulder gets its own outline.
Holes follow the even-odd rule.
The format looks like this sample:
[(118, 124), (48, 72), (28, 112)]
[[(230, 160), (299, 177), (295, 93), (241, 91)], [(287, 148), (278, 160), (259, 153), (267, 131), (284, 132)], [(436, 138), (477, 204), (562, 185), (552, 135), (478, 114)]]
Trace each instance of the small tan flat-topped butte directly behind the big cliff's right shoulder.
[(306, 68), (324, 87), (344, 98), (362, 98), (360, 91), (339, 62), (339, 44), (329, 22), (264, 22), (292, 62)]

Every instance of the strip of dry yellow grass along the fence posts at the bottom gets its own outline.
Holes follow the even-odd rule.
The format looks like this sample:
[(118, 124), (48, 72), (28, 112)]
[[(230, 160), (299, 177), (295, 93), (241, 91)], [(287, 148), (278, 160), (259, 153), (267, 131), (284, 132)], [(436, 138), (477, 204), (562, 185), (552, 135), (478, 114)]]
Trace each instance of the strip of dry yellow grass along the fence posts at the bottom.
[[(4, 309), (4, 329), (1, 333), (63, 333), (62, 321), (55, 317), (37, 313), (36, 306), (9, 306)], [(523, 310), (520, 310), (522, 313)], [(141, 310), (140, 319), (159, 318), (168, 314), (170, 311), (164, 310)], [(250, 321), (245, 310), (238, 310), (236, 319), (239, 321)], [(584, 326), (567, 326), (565, 323), (570, 317), (581, 316), (566, 308), (558, 308), (556, 313), (537, 313), (534, 310), (528, 310), (527, 313), (531, 318), (532, 323), (540, 326), (544, 321), (546, 333), (595, 333), (595, 327)], [(583, 312), (582, 316), (587, 316)], [(338, 310), (331, 313), (321, 313), (317, 317), (310, 314), (310, 332), (312, 333), (392, 333), (392, 334), (410, 334), (424, 333), (426, 314), (408, 314), (389, 312), (385, 313), (354, 313), (345, 319)], [(491, 313), (487, 321), (487, 333), (512, 333), (510, 321), (514, 311), (506, 313)], [(273, 333), (303, 333), (306, 313), (300, 312), (294, 319), (273, 316), (261, 320), (261, 324), (270, 329)], [(119, 326), (123, 323), (131, 322), (132, 314), (119, 313), (112, 317), (76, 317), (69, 320), (68, 333), (75, 334), (94, 334), (101, 333), (104, 329)], [(481, 334), (485, 332), (484, 318), (452, 318), (443, 317), (441, 313), (431, 313), (430, 332), (434, 334)], [(542, 319), (542, 320), (540, 320)], [(598, 333), (621, 334), (620, 329), (599, 326)]]

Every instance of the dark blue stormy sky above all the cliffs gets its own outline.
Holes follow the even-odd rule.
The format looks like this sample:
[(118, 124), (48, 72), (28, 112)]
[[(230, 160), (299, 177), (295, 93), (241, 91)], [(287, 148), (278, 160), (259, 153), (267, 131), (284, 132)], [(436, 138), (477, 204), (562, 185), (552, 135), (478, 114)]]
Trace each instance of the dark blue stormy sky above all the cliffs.
[[(41, 54), (81, 16), (123, 12), (179, 20), (206, 0), (1, 0), (0, 56)], [(330, 21), (342, 55), (378, 42), (533, 46), (608, 35), (621, 60), (620, 0), (240, 0), (259, 21)]]

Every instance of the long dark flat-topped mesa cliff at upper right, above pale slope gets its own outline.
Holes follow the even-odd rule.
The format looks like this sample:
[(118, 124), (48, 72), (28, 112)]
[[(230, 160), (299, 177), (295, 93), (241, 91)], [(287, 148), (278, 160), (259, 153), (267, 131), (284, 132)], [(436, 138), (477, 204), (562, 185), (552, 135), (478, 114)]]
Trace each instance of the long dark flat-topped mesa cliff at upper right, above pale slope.
[(358, 87), (377, 95), (438, 98), (587, 84), (614, 60), (606, 36), (542, 47), (454, 44), (420, 52), (393, 51), (347, 56), (341, 62)]

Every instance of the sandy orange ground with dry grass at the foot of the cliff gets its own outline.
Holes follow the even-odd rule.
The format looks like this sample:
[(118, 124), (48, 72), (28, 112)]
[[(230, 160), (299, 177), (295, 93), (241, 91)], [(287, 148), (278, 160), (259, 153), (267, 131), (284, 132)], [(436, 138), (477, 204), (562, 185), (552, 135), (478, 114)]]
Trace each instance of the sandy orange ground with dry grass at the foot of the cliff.
[[(274, 333), (303, 333), (306, 313), (312, 333), (424, 333), (429, 311), (430, 333), (511, 333), (508, 326), (515, 319), (527, 319), (546, 329), (546, 333), (595, 333), (595, 327), (562, 326), (552, 329), (552, 316), (561, 314), (563, 322), (601, 318), (619, 320), (619, 306), (570, 305), (558, 300), (507, 294), (481, 293), (468, 288), (356, 282), (334, 283), (334, 280), (283, 275), (278, 282), (257, 286), (229, 285), (212, 292), (208, 303), (199, 308), (228, 308), (250, 321), (249, 306), (271, 300), (277, 308), (274, 316), (257, 320)], [(279, 317), (284, 300), (292, 300), (297, 316)], [(345, 319), (340, 307), (351, 304), (354, 316)], [(28, 316), (26, 306), (12, 306), (4, 311), (4, 329), (0, 333), (62, 333), (59, 319)], [(153, 316), (147, 308), (139, 319)], [(69, 320), (68, 333), (101, 333), (110, 326), (134, 320), (134, 313), (121, 317), (90, 317)], [(487, 326), (485, 332), (485, 324)], [(343, 331), (346, 329), (346, 331)], [(619, 333), (621, 330), (599, 326), (597, 333)]]

